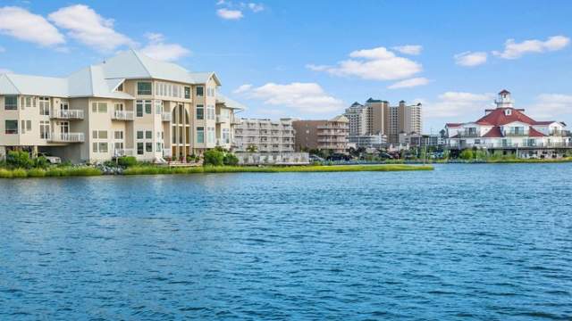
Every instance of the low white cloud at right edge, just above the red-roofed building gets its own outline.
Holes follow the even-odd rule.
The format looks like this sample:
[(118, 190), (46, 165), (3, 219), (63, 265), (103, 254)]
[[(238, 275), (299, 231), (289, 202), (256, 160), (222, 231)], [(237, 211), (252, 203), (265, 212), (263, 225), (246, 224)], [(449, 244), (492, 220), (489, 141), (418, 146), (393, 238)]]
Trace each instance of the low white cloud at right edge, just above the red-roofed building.
[(561, 121), (561, 117), (572, 115), (572, 95), (542, 94), (536, 102), (526, 108), (528, 114), (537, 120)]

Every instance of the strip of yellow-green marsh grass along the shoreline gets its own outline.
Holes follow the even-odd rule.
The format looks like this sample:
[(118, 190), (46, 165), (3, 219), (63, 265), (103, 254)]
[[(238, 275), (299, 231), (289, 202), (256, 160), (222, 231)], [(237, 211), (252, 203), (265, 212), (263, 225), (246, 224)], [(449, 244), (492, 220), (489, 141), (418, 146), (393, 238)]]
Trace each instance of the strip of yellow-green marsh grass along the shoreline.
[[(166, 174), (207, 174), (207, 173), (284, 173), (284, 172), (349, 172), (349, 171), (404, 171), (433, 170), (432, 166), (387, 164), (387, 165), (332, 165), (332, 166), (204, 166), (166, 167), (137, 165), (122, 171), (121, 175), (166, 175)], [(26, 177), (91, 177), (103, 175), (96, 167), (55, 167), (48, 169), (0, 169), (0, 178)]]

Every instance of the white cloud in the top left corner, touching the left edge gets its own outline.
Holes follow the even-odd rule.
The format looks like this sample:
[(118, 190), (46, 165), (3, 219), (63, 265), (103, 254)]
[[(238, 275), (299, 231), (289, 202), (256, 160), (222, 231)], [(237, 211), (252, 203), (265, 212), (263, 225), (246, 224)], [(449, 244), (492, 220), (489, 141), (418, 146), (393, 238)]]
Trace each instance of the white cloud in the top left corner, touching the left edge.
[(44, 17), (20, 7), (0, 8), (0, 33), (34, 44), (63, 45), (63, 35)]

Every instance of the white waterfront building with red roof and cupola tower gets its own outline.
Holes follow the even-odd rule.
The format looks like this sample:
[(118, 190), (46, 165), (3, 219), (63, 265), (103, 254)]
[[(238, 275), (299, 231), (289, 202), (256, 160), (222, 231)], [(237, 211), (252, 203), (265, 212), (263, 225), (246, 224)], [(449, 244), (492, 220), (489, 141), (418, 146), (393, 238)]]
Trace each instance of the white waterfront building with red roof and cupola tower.
[(525, 110), (513, 106), (507, 90), (499, 93), (497, 108), (485, 110), (481, 119), (467, 123), (448, 123), (445, 135), (451, 149), (486, 148), (512, 150), (519, 156), (558, 154), (572, 148), (569, 132), (562, 121), (537, 121)]

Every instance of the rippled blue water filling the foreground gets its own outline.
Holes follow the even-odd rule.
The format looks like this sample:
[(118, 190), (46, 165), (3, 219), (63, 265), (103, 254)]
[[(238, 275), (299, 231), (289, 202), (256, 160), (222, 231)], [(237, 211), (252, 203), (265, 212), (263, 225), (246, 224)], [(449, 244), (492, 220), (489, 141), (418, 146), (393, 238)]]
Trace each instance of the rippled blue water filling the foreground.
[(0, 180), (0, 319), (572, 319), (572, 164)]

